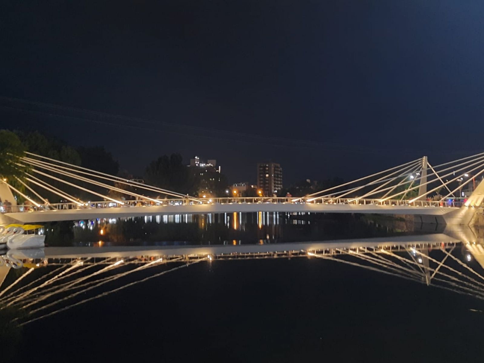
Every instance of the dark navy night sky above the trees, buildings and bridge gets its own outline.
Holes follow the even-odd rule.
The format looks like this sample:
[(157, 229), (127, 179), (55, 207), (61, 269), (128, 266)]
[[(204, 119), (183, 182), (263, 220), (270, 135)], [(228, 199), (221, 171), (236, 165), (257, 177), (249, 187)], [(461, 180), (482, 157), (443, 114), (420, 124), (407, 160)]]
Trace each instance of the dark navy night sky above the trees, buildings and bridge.
[(5, 0), (0, 127), (135, 173), (197, 154), (230, 182), (268, 160), (286, 185), (438, 164), (483, 149), (483, 18), (455, 0)]

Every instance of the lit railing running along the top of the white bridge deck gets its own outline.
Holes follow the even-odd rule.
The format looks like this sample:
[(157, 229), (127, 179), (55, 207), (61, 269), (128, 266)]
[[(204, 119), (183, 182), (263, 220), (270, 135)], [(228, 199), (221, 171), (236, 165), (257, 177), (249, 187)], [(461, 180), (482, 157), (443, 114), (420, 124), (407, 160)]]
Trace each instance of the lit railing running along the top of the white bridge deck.
[(363, 199), (363, 198), (332, 198), (332, 197), (301, 197), (294, 201), (294, 197), (221, 197), (221, 198), (166, 198), (166, 199), (141, 199), (141, 200), (123, 200), (122, 203), (113, 201), (89, 201), (79, 203), (52, 203), (41, 204), (39, 207), (24, 204), (18, 206), (2, 206), (0, 212), (36, 212), (36, 211), (65, 211), (80, 209), (105, 209), (105, 208), (130, 208), (153, 206), (183, 206), (183, 205), (203, 205), (203, 204), (345, 204), (345, 205), (375, 205), (375, 206), (407, 206), (407, 207), (450, 207), (459, 208), (464, 205), (464, 200), (401, 200), (401, 199)]

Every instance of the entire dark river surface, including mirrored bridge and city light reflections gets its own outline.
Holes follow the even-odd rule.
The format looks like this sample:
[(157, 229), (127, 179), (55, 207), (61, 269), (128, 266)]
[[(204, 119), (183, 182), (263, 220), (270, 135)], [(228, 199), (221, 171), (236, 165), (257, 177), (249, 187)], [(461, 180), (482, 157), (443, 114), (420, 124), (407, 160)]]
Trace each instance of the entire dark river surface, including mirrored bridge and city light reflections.
[(21, 359), (482, 362), (484, 249), (451, 232), (349, 214), (49, 224), (0, 323)]

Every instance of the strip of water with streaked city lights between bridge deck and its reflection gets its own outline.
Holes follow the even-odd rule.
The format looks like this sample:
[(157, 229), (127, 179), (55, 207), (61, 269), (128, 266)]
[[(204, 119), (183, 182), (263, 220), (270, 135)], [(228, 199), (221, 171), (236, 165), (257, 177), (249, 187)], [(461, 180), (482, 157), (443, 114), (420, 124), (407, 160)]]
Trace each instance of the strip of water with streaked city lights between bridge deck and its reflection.
[(267, 212), (97, 219), (45, 229), (49, 246), (284, 243), (423, 233), (403, 218)]

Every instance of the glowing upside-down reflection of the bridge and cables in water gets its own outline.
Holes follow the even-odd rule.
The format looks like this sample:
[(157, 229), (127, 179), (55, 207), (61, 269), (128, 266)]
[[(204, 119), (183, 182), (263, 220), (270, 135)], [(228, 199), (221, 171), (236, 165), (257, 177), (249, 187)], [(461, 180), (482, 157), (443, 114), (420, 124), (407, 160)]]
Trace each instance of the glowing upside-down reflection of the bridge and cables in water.
[(193, 264), (297, 257), (347, 264), (484, 300), (484, 245), (464, 230), (265, 245), (9, 250), (0, 257), (0, 309), (24, 310), (17, 320), (25, 325)]

